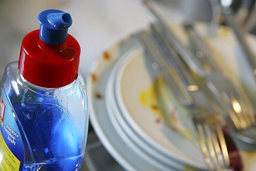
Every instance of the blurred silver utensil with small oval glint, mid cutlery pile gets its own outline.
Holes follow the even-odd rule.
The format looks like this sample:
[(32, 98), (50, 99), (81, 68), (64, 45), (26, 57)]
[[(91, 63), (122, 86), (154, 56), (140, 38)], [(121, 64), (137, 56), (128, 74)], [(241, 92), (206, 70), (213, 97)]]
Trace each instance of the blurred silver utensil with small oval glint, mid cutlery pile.
[[(194, 99), (193, 101), (198, 107), (209, 109), (217, 113), (220, 112), (220, 110), (217, 109), (219, 104), (216, 103), (217, 101), (213, 100), (214, 96), (212, 96), (210, 92), (206, 94), (202, 91), (202, 89), (207, 88), (204, 78), (194, 77), (191, 74), (186, 62), (182, 60), (180, 54), (167, 42), (156, 25), (151, 25), (151, 31), (158, 48), (164, 54), (165, 60), (167, 61), (166, 63), (177, 73), (177, 76), (175, 76), (177, 78), (174, 77), (175, 81), (181, 83), (179, 84), (180, 87), (185, 87), (184, 90), (190, 95), (189, 99)], [(209, 98), (209, 96), (212, 98)]]

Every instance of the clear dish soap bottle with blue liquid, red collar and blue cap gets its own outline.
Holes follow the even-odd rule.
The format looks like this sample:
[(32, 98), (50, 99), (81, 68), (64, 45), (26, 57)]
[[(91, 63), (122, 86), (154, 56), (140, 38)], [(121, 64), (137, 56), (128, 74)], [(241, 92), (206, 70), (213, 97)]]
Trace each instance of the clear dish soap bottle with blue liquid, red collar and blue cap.
[(2, 78), (0, 170), (77, 171), (89, 123), (80, 46), (70, 14), (45, 10), (38, 20)]

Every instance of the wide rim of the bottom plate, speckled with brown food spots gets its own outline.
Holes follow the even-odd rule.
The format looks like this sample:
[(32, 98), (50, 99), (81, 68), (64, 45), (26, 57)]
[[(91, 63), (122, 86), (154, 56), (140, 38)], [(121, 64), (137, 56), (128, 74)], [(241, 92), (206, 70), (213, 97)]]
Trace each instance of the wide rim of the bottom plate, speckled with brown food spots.
[(106, 84), (116, 60), (126, 51), (136, 46), (134, 39), (126, 39), (102, 54), (92, 67), (87, 78), (89, 92), (90, 121), (102, 144), (111, 156), (126, 170), (159, 170), (150, 162), (141, 158), (137, 151), (131, 149), (118, 135), (111, 124), (105, 103)]

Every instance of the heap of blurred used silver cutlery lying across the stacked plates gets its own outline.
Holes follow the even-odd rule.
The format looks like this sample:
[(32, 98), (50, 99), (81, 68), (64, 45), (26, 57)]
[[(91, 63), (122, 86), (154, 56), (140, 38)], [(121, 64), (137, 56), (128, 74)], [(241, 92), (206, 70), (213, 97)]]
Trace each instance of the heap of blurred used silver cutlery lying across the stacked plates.
[[(221, 73), (210, 48), (193, 24), (183, 25), (191, 46), (187, 48), (148, 1), (145, 1), (145, 5), (158, 21), (151, 24), (150, 31), (138, 34), (147, 56), (157, 64), (165, 84), (172, 89), (181, 105), (188, 109), (207, 167), (210, 170), (233, 168), (233, 159), (228, 155), (230, 144), (227, 141), (230, 140), (227, 137), (232, 139), (230, 132), (239, 140), (256, 144), (255, 135), (247, 131), (251, 132), (256, 125), (254, 109), (243, 99), (244, 96), (231, 80)], [(231, 25), (230, 18), (228, 21)], [(241, 35), (237, 28), (235, 32), (239, 39)], [(252, 61), (250, 50), (243, 41), (242, 38), (242, 47), (255, 69), (255, 61)], [(238, 152), (236, 158), (240, 159)]]

